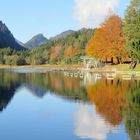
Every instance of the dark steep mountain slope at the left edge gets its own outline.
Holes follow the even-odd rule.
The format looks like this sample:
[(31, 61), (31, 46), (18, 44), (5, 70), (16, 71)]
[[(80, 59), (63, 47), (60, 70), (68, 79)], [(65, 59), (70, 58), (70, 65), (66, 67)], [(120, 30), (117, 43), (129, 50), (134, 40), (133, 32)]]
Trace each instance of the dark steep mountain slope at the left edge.
[(0, 21), (0, 48), (8, 47), (15, 50), (25, 50), (23, 46), (16, 42), (16, 39), (7, 26), (2, 21)]

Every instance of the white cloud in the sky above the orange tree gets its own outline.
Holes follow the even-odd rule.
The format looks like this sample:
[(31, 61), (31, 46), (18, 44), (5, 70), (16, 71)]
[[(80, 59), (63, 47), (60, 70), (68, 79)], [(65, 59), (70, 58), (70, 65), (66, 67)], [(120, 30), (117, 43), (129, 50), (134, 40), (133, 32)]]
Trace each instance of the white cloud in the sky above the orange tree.
[(97, 27), (118, 5), (119, 0), (75, 0), (74, 16), (82, 26)]

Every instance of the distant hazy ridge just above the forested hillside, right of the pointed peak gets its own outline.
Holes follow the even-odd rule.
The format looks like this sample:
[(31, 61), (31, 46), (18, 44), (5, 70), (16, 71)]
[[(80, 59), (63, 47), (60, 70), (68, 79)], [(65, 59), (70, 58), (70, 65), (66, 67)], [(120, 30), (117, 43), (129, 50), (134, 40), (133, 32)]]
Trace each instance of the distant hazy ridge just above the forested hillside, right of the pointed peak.
[(54, 37), (51, 37), (51, 38), (50, 38), (50, 41), (58, 40), (58, 39), (61, 39), (61, 38), (66, 38), (68, 35), (70, 35), (70, 34), (72, 34), (72, 33), (74, 33), (74, 32), (75, 32), (75, 31), (73, 31), (73, 30), (67, 30), (67, 31), (65, 31), (65, 32), (62, 32), (62, 33), (60, 33), (60, 34), (54, 36)]

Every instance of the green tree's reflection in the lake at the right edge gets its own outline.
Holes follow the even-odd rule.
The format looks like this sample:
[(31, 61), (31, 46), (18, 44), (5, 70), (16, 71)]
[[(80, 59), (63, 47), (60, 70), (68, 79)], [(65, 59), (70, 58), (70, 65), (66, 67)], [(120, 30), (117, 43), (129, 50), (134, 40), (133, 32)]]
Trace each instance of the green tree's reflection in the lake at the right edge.
[(123, 108), (126, 130), (132, 140), (140, 139), (140, 82), (126, 94)]

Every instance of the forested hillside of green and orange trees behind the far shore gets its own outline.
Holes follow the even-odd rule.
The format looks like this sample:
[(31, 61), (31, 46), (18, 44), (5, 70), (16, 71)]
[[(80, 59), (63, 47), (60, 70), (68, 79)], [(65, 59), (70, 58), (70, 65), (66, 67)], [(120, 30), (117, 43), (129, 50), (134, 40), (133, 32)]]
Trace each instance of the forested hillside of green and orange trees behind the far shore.
[(82, 28), (64, 38), (49, 40), (47, 44), (31, 51), (30, 64), (78, 64), (94, 33), (95, 29)]

